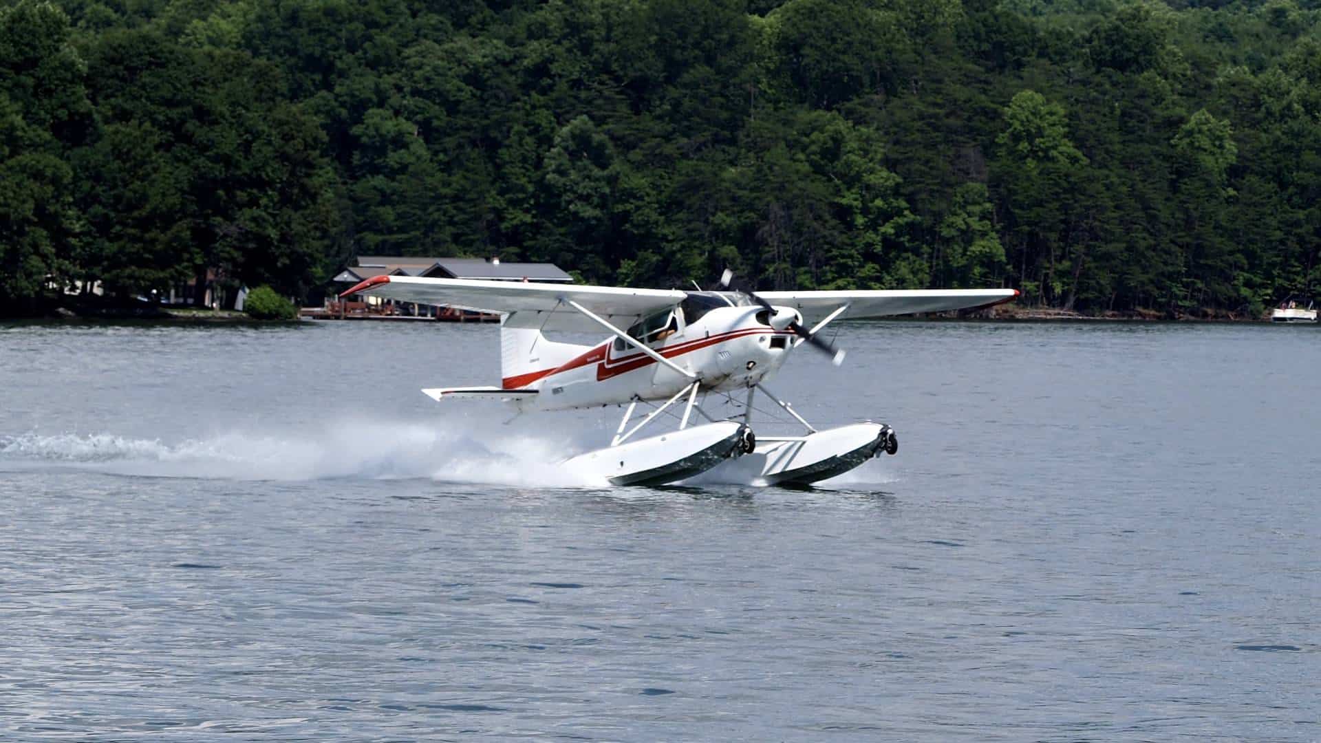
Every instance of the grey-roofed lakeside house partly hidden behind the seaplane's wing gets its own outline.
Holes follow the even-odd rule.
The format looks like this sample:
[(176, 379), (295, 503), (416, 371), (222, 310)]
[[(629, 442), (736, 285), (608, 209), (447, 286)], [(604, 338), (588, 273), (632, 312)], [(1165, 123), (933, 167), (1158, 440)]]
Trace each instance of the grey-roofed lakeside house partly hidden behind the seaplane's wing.
[[(489, 282), (539, 282), (568, 284), (573, 276), (553, 263), (514, 263), (499, 258), (435, 258), (411, 255), (359, 255), (336, 274), (334, 282), (350, 288), (373, 276), (427, 276), (435, 279), (481, 279)], [(415, 317), (437, 320), (495, 320), (482, 315), (417, 303), (383, 300), (373, 295), (339, 295), (325, 308), (306, 311), (309, 317)]]

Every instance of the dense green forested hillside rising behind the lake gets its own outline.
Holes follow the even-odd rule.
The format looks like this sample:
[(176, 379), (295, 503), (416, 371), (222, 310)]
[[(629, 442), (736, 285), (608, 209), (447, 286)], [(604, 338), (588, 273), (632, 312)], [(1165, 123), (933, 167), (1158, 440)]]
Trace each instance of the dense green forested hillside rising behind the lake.
[(0, 312), (305, 295), (354, 254), (585, 280), (1321, 284), (1321, 0), (3, 0)]

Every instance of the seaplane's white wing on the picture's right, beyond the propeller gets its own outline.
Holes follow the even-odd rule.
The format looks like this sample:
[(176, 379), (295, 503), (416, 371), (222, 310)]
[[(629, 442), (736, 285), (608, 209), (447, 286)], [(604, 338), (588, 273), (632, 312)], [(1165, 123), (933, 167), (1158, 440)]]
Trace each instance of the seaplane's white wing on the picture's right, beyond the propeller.
[(757, 292), (771, 304), (793, 307), (814, 323), (848, 305), (844, 319), (885, 317), (913, 312), (943, 312), (989, 307), (1018, 296), (1017, 290), (871, 290)]

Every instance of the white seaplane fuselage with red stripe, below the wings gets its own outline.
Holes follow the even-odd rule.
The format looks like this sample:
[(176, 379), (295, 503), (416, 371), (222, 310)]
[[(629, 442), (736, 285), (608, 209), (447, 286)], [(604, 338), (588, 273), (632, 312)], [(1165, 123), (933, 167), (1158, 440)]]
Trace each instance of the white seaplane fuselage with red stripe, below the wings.
[(774, 374), (797, 340), (785, 328), (798, 312), (775, 309), (770, 316), (757, 305), (717, 307), (691, 324), (675, 311), (651, 338), (638, 338), (691, 377), (618, 337), (589, 346), (543, 336), (536, 340), (540, 348), (534, 346), (534, 354), (539, 352), (534, 358), (544, 360), (544, 366), (505, 377), (502, 387), (539, 391), (511, 401), (528, 411), (664, 401), (695, 381), (703, 391), (746, 390)]

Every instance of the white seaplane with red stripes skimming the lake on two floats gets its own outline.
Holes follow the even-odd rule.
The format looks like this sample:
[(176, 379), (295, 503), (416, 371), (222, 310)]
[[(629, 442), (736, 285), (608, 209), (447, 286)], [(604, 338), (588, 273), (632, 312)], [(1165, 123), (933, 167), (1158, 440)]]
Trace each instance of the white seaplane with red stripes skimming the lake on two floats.
[[(568, 456), (561, 465), (614, 485), (664, 485), (738, 459), (754, 485), (808, 485), (835, 477), (898, 438), (886, 423), (857, 422), (819, 430), (766, 381), (799, 348), (830, 356), (844, 350), (822, 337), (841, 319), (886, 317), (989, 307), (1016, 290), (734, 290), (725, 271), (720, 291), (647, 290), (421, 276), (373, 276), (341, 296), (366, 293), (501, 316), (501, 383), (431, 387), (448, 399), (497, 399), (520, 412), (618, 406), (610, 444)], [(604, 331), (596, 345), (551, 340), (556, 333)], [(797, 436), (757, 436), (753, 397), (761, 394), (803, 427)], [(742, 412), (716, 419), (708, 395), (742, 398)], [(642, 405), (649, 410), (634, 422)], [(682, 409), (682, 414), (679, 410)], [(655, 432), (662, 414), (678, 419)], [(700, 419), (700, 422), (699, 422)], [(653, 427), (650, 435), (638, 434)]]

